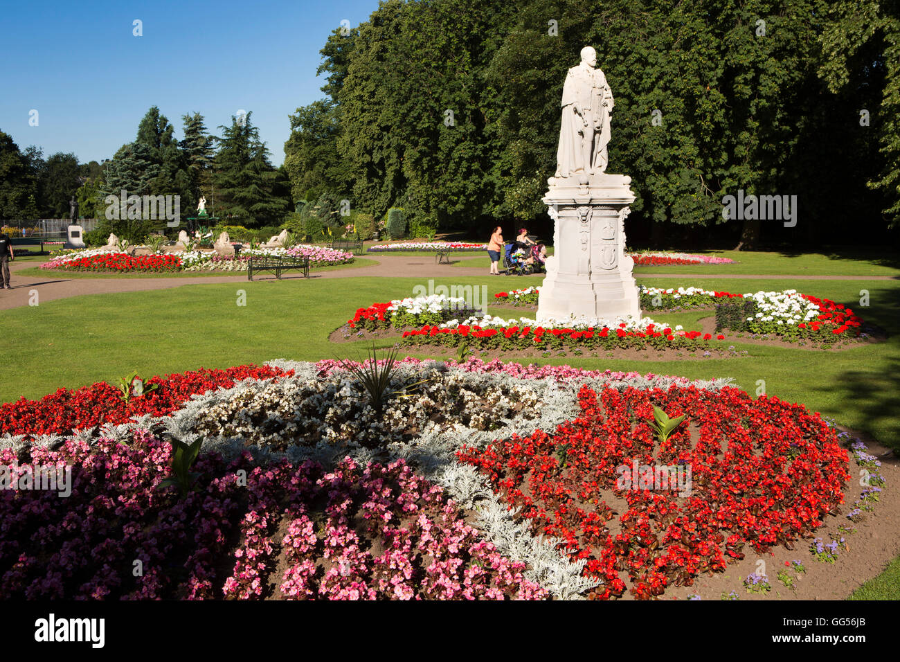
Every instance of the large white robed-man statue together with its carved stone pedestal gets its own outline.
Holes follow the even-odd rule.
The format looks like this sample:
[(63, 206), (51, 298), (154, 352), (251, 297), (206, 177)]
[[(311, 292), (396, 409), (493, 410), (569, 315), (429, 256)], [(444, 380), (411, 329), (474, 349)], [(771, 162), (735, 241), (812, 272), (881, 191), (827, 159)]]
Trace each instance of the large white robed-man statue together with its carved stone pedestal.
[(556, 173), (544, 196), (554, 219), (554, 255), (538, 301), (541, 322), (641, 316), (635, 263), (625, 253), (635, 194), (631, 177), (606, 172), (613, 95), (596, 65), (597, 52), (585, 47), (563, 84)]

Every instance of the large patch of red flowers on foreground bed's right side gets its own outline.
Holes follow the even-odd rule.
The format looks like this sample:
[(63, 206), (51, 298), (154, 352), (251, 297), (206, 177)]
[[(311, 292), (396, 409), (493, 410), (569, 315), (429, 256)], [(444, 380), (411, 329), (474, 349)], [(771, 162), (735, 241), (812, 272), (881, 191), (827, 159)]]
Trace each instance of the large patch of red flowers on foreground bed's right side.
[[(598, 399), (583, 386), (579, 395), (581, 415), (554, 435), (536, 431), (457, 457), (481, 468), (536, 533), (587, 559), (585, 573), (604, 582), (590, 597), (621, 595), (619, 571), (636, 597), (652, 598), (721, 572), (744, 545), (793, 549), (843, 503), (847, 451), (800, 404), (734, 388), (606, 388)], [(650, 427), (653, 404), (688, 417), (663, 445)], [(652, 473), (646, 480), (662, 467), (689, 469), (689, 494)], [(632, 476), (641, 476), (636, 485)]]

